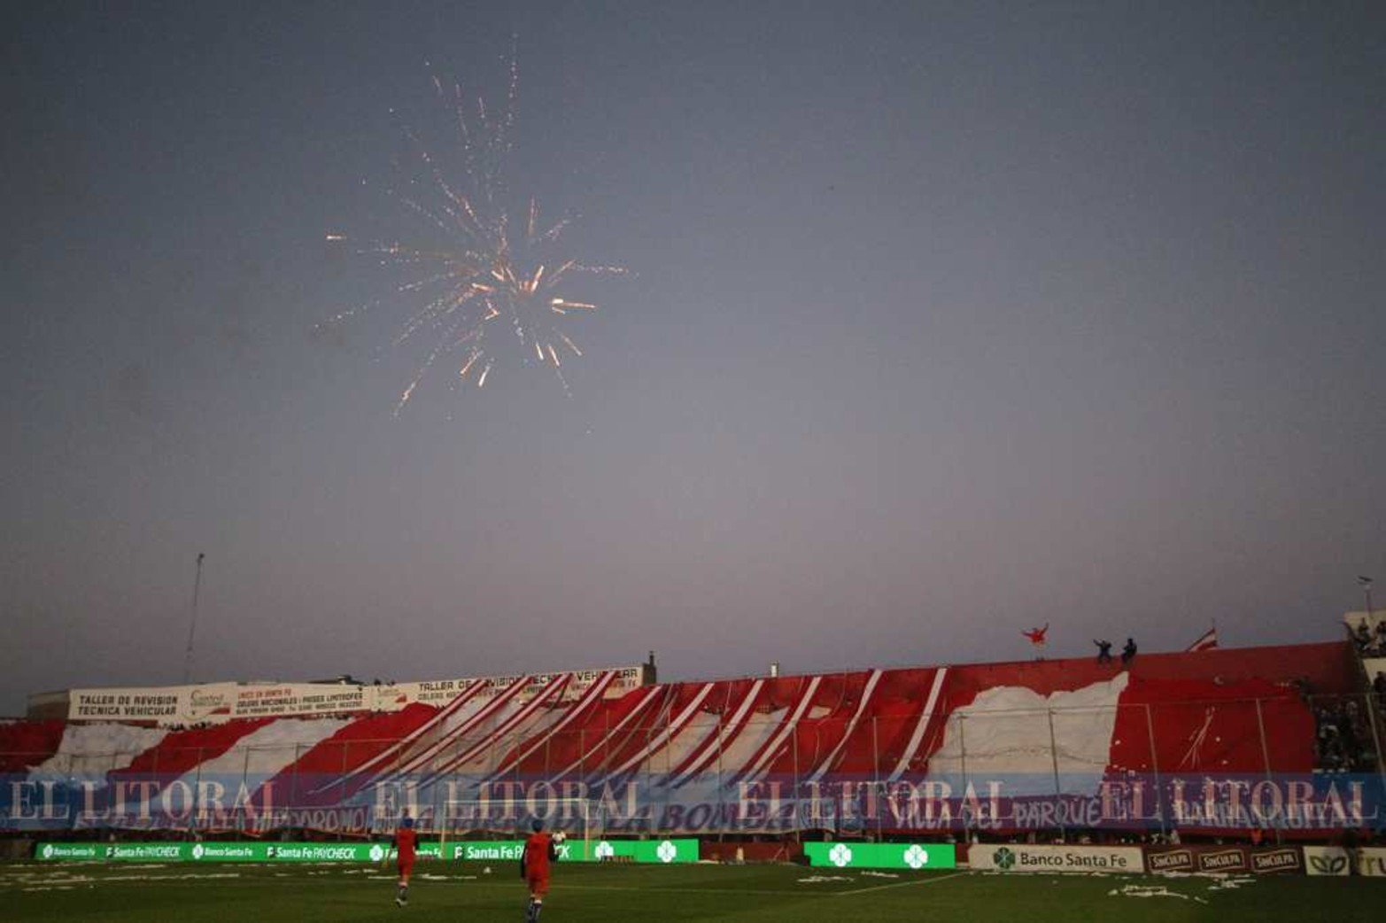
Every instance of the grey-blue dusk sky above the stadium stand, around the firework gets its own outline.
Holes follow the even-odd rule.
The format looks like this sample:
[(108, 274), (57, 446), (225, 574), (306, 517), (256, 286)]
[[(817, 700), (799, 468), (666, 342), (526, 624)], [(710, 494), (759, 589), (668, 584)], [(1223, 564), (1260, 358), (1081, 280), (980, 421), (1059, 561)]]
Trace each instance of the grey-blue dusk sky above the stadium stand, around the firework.
[[(1374, 3), (25, 3), (0, 714), (65, 686), (661, 678), (1339, 638), (1386, 606)], [(363, 244), (432, 75), (571, 213), (485, 387)], [(431, 141), (430, 141), (431, 143)], [(346, 241), (328, 241), (342, 234)], [(378, 304), (340, 324), (324, 322)]]

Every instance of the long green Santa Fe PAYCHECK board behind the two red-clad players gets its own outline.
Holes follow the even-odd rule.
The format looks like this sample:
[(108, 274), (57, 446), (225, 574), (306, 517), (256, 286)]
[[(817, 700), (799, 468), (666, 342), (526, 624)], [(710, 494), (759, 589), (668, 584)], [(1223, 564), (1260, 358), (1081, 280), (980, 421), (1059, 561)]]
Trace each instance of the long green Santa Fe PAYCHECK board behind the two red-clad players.
[[(520, 840), (463, 840), (446, 844), (449, 859), (518, 862)], [(437, 843), (420, 843), (419, 858), (439, 858)], [(697, 840), (568, 840), (560, 861), (600, 862), (626, 856), (632, 862), (697, 862)], [(395, 851), (385, 843), (40, 843), (35, 858), (47, 862), (387, 862)]]

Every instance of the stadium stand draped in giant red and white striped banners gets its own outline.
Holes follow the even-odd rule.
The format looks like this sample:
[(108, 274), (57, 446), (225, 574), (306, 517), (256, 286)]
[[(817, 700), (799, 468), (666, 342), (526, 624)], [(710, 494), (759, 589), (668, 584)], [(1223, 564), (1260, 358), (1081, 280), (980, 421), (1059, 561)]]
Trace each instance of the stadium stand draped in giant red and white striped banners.
[[(681, 791), (703, 800), (712, 791), (726, 807), (768, 782), (962, 787), (1005, 777), (1020, 794), (1092, 795), (1105, 779), (1141, 773), (1375, 771), (1371, 693), (1356, 653), (1350, 642), (1224, 647), (1141, 654), (1128, 665), (1085, 657), (676, 682), (615, 694), (607, 694), (614, 671), (582, 683), (578, 674), (553, 674), (463, 683), (437, 705), (312, 719), (169, 730), (8, 722), (0, 725), (0, 766), (105, 773), (111, 782), (183, 779), (190, 790), (207, 779), (241, 782), (294, 807), (444, 782), (456, 801), (525, 780), (552, 791), (638, 780), (642, 797), (665, 805)], [(719, 823), (735, 829), (736, 818), (711, 826)]]

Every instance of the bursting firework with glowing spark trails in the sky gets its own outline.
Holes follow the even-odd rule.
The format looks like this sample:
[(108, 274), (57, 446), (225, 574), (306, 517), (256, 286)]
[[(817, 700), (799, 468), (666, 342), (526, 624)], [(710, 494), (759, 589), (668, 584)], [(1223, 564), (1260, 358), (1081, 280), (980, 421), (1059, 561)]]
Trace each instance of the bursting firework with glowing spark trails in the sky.
[[(559, 285), (578, 274), (625, 274), (621, 266), (589, 265), (557, 252), (570, 216), (542, 215), (536, 198), (523, 209), (507, 208), (505, 166), (513, 150), (520, 72), (510, 58), (506, 105), (499, 112), (484, 97), (468, 101), (457, 83), (430, 69), (437, 98), (449, 109), (452, 148), (438, 155), (409, 125), (402, 134), (409, 155), (395, 161), (395, 182), (385, 190), (406, 216), (427, 231), (427, 241), (381, 241), (358, 251), (401, 279), (394, 295), (342, 310), (328, 322), (344, 323), (383, 306), (407, 312), (394, 337), (396, 346), (431, 335), (427, 356), (416, 367), (395, 405), (398, 416), (435, 364), (456, 358), (453, 384), (486, 384), (502, 360), (545, 366), (563, 384), (559, 345), (572, 355), (582, 349), (559, 327), (572, 315), (596, 310), (596, 304), (560, 294)], [(456, 169), (449, 164), (456, 162)], [(346, 234), (331, 231), (328, 241)], [(506, 320), (502, 326), (498, 322)], [(503, 351), (509, 328), (517, 349)]]

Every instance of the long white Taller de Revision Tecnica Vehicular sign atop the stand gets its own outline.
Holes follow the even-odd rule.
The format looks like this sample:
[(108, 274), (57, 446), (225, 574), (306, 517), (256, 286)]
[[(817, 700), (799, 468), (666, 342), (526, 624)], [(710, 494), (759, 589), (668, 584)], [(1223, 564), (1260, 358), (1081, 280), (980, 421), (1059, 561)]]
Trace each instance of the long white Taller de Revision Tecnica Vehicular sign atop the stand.
[[(567, 674), (568, 682), (560, 701), (578, 698), (607, 672), (613, 672), (615, 676), (603, 692), (606, 698), (624, 696), (643, 683), (644, 674), (640, 667), (578, 671)], [(191, 725), (231, 718), (399, 711), (414, 703), (445, 705), (477, 682), (484, 683), (480, 692), (482, 697), (498, 696), (516, 682), (523, 682), (524, 687), (517, 698), (528, 701), (559, 676), (564, 676), (564, 674), (437, 679), (388, 686), (202, 683), (197, 686), (73, 689), (68, 696), (68, 721), (147, 721), (158, 725)]]

